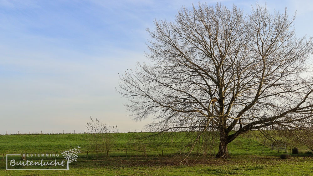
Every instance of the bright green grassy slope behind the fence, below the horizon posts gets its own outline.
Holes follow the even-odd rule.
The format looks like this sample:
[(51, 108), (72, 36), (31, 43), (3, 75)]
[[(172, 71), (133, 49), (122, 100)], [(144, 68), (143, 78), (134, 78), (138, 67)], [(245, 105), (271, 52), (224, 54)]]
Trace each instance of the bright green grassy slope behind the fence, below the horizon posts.
[[(112, 133), (110, 156), (138, 156), (146, 150), (146, 155), (175, 155), (182, 151), (190, 139), (184, 139), (184, 132), (177, 132), (171, 137), (148, 138), (154, 133)], [(0, 154), (14, 153), (58, 153), (67, 148), (80, 146), (82, 154), (95, 153), (93, 134), (24, 134), (0, 135)], [(196, 146), (197, 148), (197, 146)], [(231, 154), (265, 154), (277, 153), (256, 140), (238, 138), (228, 145)], [(105, 149), (104, 149), (105, 150)], [(194, 153), (199, 153), (195, 149)], [(211, 150), (210, 150), (211, 151)], [(218, 151), (217, 144), (212, 155)], [(187, 152), (183, 151), (183, 152)], [(100, 152), (101, 153), (101, 152)]]

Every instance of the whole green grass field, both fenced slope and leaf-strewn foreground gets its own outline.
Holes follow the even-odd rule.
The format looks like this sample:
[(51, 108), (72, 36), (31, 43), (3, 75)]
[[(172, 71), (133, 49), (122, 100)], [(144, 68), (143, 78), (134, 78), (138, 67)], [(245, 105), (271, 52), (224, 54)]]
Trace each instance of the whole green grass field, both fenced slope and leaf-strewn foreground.
[[(161, 145), (138, 139), (149, 134), (116, 133), (110, 157), (101, 153), (98, 158), (88, 140), (92, 134), (0, 135), (0, 175), (313, 175), (311, 155), (280, 159), (277, 151), (252, 138), (238, 138), (230, 143), (228, 160), (200, 155), (194, 162), (195, 150), (182, 164), (184, 153), (175, 157), (186, 145), (181, 134), (166, 138)], [(6, 170), (6, 154), (61, 153), (76, 146), (81, 147), (81, 153), (77, 162), (69, 163), (69, 170)], [(214, 150), (212, 154), (217, 148)]]

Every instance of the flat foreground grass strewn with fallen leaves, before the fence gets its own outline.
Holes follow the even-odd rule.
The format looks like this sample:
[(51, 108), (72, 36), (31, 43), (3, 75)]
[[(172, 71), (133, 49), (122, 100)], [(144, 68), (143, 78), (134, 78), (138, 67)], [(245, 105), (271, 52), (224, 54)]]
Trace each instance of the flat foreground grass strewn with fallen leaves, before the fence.
[(312, 175), (311, 157), (282, 160), (278, 155), (237, 155), (180, 165), (172, 158), (79, 159), (65, 171), (0, 170), (0, 175)]

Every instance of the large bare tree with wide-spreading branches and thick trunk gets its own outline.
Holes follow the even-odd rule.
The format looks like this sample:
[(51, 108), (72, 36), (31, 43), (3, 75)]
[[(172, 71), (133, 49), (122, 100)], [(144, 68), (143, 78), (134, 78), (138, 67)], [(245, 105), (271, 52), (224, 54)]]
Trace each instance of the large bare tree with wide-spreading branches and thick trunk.
[(148, 30), (149, 64), (120, 75), (118, 90), (135, 119), (149, 128), (219, 135), (217, 158), (250, 130), (301, 129), (312, 124), (311, 38), (298, 38), (294, 17), (251, 13), (217, 4), (182, 8), (175, 22)]

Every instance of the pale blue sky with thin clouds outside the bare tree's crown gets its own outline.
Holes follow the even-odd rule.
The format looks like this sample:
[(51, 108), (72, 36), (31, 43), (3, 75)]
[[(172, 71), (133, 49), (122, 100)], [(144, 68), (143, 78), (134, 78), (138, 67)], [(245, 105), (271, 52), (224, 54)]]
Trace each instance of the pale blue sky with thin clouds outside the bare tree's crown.
[[(248, 0), (0, 0), (0, 134), (84, 133), (90, 117), (119, 132), (144, 129), (117, 93), (118, 73), (144, 62), (154, 20), (174, 22), (192, 4)], [(313, 36), (310, 0), (258, 1), (270, 12), (287, 7), (299, 37)]]

